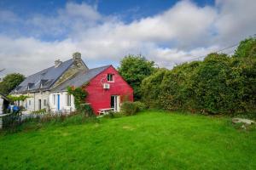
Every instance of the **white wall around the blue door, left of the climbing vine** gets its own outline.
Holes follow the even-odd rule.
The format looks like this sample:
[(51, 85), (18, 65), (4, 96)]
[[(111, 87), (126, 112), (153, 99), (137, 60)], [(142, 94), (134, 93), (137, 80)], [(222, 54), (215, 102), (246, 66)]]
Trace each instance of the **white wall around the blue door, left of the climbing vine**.
[[(50, 111), (58, 111), (58, 101), (57, 101), (58, 94), (60, 95), (60, 111), (62, 112), (75, 111), (73, 95), (71, 95), (71, 105), (67, 106), (67, 96), (66, 96), (67, 92), (49, 94)], [(54, 95), (55, 95), (55, 102), (54, 102)]]

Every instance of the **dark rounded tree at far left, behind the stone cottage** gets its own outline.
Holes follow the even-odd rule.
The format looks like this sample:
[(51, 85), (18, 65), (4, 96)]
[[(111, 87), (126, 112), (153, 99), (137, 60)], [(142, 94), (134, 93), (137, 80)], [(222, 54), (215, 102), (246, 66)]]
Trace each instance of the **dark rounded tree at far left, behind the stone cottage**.
[(23, 82), (24, 79), (25, 77), (20, 73), (13, 73), (3, 77), (3, 81), (0, 82), (0, 93), (8, 95), (20, 82)]

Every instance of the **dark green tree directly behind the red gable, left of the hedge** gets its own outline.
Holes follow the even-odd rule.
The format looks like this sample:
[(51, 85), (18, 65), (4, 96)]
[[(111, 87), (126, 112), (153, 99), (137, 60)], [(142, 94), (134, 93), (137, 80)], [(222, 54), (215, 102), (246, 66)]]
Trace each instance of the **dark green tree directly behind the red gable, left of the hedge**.
[(148, 61), (142, 55), (128, 55), (120, 61), (119, 74), (125, 78), (134, 90), (134, 98), (141, 99), (141, 83), (154, 72), (154, 61)]

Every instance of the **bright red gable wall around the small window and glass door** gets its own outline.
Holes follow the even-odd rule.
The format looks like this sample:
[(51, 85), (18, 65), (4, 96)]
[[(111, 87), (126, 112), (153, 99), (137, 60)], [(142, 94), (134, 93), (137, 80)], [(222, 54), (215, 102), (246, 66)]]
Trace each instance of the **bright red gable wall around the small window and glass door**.
[[(109, 73), (113, 74), (113, 82), (108, 82), (107, 80)], [(102, 83), (105, 82), (110, 84), (109, 89), (103, 89)], [(121, 103), (125, 99), (133, 101), (133, 89), (113, 66), (109, 66), (108, 69), (94, 77), (85, 89), (88, 92), (86, 102), (90, 103), (96, 114), (99, 109), (111, 107), (111, 95), (120, 95)]]

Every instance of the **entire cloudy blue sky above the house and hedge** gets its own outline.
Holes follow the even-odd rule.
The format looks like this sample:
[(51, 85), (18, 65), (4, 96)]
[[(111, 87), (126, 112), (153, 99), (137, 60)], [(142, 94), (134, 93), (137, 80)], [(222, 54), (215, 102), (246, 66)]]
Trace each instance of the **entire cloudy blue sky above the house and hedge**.
[(74, 52), (89, 68), (118, 67), (128, 54), (172, 68), (256, 34), (255, 8), (255, 0), (0, 0), (0, 77), (29, 76)]

